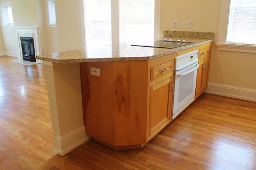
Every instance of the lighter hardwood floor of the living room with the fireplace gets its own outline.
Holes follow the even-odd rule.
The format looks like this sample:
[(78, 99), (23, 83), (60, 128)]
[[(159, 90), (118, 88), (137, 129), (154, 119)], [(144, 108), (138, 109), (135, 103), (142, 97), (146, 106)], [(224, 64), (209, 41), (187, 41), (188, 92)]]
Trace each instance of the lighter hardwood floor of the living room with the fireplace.
[(0, 169), (34, 169), (54, 155), (44, 71), (10, 60), (0, 56)]

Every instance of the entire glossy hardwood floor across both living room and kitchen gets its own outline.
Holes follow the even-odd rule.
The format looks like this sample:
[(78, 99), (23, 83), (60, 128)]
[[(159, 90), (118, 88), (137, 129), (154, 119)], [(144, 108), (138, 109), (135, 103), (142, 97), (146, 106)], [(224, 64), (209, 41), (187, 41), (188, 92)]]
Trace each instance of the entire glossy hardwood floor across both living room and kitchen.
[(15, 59), (0, 57), (1, 170), (256, 169), (256, 103), (209, 94), (141, 149), (116, 151), (90, 140), (53, 156), (42, 65), (9, 62)]

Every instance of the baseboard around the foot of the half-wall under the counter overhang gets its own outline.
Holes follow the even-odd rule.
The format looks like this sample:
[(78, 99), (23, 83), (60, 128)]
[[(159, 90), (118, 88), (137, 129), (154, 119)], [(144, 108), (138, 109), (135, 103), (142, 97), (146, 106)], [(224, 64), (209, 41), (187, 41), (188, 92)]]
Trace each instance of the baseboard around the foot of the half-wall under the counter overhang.
[(57, 140), (55, 140), (55, 149), (53, 151), (55, 154), (63, 156), (90, 139), (91, 137), (85, 134), (85, 128), (83, 126), (62, 137), (57, 137)]

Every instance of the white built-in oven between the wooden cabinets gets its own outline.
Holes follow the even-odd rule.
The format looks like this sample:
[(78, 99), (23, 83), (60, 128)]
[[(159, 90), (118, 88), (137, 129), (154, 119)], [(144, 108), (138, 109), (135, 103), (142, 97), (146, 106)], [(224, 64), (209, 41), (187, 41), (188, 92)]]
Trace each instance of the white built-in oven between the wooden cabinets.
[(198, 50), (175, 58), (173, 119), (195, 100), (198, 67)]

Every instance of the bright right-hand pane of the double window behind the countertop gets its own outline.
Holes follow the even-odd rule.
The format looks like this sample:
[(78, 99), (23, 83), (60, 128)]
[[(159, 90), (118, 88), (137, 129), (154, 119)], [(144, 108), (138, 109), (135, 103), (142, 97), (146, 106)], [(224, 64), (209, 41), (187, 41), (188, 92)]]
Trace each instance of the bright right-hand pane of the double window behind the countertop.
[(155, 0), (119, 0), (120, 42), (143, 43), (154, 39)]

